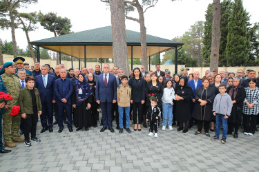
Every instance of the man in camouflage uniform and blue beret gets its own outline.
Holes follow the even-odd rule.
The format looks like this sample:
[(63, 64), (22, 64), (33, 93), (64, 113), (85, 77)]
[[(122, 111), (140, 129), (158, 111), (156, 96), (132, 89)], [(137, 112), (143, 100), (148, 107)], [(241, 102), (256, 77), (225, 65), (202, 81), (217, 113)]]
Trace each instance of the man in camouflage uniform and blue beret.
[[(4, 73), (3, 73), (4, 72)], [(19, 90), (21, 85), (19, 78), (15, 76), (15, 63), (7, 62), (3, 64), (3, 68), (0, 70), (0, 74), (8, 94), (12, 96), (12, 100), (9, 100), (5, 105), (6, 111), (3, 113), (3, 140), (7, 147), (16, 147), (15, 142), (24, 142), (24, 139), (19, 138), (18, 132), (21, 123), (21, 115), (10, 116), (10, 109), (18, 105)]]

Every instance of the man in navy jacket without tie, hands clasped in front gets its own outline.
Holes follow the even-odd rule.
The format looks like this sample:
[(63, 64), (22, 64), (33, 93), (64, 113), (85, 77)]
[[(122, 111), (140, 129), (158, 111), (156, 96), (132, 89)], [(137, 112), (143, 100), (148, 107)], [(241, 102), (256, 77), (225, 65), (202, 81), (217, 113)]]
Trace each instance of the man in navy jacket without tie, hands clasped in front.
[(68, 118), (68, 130), (73, 132), (73, 121), (72, 121), (72, 94), (73, 94), (73, 83), (72, 80), (66, 78), (66, 69), (60, 69), (60, 78), (55, 80), (55, 96), (57, 111), (59, 114), (59, 133), (64, 129), (63, 118), (64, 109), (66, 110), (66, 117)]

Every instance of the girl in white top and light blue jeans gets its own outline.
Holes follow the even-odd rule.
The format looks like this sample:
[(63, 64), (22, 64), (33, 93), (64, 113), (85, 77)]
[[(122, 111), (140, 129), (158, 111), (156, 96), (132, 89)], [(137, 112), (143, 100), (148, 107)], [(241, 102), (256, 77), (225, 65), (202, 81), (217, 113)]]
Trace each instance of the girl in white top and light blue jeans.
[[(173, 99), (175, 98), (175, 90), (172, 87), (172, 80), (168, 79), (165, 82), (164, 94), (162, 96), (163, 105), (163, 123), (162, 130), (166, 130), (166, 125), (168, 124), (169, 130), (173, 130)], [(168, 122), (166, 122), (168, 118)]]

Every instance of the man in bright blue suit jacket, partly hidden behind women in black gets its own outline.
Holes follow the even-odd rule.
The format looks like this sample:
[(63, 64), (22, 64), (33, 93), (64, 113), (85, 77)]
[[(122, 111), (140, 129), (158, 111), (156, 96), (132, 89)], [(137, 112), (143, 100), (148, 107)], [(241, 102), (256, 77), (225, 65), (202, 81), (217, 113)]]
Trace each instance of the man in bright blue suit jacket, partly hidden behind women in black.
[[(199, 77), (200, 77), (200, 72), (195, 71), (193, 73), (193, 80), (189, 80), (188, 81), (188, 85), (193, 90), (193, 96), (191, 96), (191, 100), (192, 100), (192, 103), (191, 103), (191, 114), (193, 114), (193, 108), (194, 108), (194, 104), (195, 104), (194, 94), (196, 92), (196, 89), (198, 89), (198, 87), (202, 87), (202, 80)], [(193, 118), (191, 118), (191, 120), (189, 122), (189, 128), (191, 129), (191, 127), (193, 127)]]

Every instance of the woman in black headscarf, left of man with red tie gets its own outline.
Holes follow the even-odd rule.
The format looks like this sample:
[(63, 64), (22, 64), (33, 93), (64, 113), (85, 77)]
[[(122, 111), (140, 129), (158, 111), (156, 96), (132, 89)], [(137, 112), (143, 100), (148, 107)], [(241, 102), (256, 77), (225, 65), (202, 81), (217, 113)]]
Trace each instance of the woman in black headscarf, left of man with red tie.
[(97, 120), (99, 120), (99, 112), (97, 111), (98, 109), (98, 104), (96, 103), (95, 100), (95, 87), (96, 87), (96, 76), (94, 74), (88, 74), (86, 77), (88, 80), (88, 84), (90, 85), (91, 89), (93, 90), (93, 102), (91, 103), (91, 114), (90, 114), (90, 125), (93, 127), (97, 127)]

